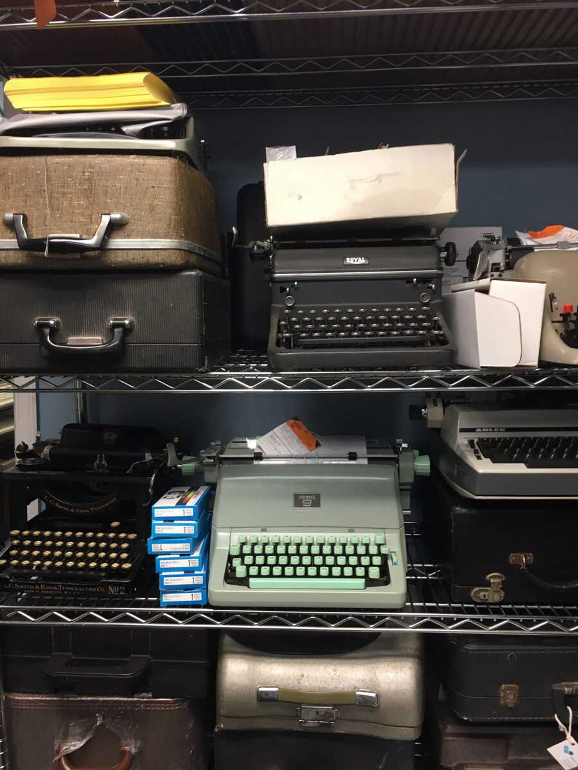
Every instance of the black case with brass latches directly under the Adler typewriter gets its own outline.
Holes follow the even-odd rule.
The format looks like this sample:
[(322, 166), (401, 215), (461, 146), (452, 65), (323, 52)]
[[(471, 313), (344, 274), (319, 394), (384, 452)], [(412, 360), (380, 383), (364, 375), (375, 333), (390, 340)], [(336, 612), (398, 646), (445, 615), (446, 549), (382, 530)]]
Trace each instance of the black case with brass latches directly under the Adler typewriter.
[(432, 474), (425, 531), (455, 601), (573, 604), (578, 537), (570, 500), (473, 500)]

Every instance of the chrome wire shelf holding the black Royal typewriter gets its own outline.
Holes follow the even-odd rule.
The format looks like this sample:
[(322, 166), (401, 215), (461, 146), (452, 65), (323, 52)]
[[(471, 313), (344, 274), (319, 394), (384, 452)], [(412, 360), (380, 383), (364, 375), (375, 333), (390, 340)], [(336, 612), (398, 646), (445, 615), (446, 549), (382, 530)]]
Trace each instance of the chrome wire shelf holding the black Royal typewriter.
[(541, 369), (302, 370), (273, 372), (259, 353), (234, 353), (191, 374), (62, 374), (0, 376), (15, 393), (404, 393), (439, 390), (578, 390), (578, 367)]

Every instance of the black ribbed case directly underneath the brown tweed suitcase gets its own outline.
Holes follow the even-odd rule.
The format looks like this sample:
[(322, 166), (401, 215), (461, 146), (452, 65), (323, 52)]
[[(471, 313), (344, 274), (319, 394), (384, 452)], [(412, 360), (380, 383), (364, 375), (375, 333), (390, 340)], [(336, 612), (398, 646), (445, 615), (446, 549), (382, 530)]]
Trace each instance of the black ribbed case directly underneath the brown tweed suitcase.
[(229, 283), (199, 270), (6, 272), (0, 282), (4, 372), (190, 372), (229, 350)]

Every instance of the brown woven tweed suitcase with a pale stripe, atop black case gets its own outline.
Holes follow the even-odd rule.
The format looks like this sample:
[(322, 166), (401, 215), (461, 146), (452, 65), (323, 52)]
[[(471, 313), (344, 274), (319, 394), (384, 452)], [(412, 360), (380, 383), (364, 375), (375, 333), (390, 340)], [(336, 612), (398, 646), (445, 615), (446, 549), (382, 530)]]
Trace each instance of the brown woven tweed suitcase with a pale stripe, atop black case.
[(169, 156), (0, 156), (0, 269), (202, 269), (221, 275), (217, 199)]

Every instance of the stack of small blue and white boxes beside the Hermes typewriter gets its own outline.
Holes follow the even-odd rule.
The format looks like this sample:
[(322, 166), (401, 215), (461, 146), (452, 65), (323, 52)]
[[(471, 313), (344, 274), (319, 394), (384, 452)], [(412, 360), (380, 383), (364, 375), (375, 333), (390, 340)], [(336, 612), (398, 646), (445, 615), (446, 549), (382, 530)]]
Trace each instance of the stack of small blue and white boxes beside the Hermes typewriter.
[(147, 551), (156, 557), (161, 607), (207, 604), (210, 487), (173, 487), (153, 505)]

